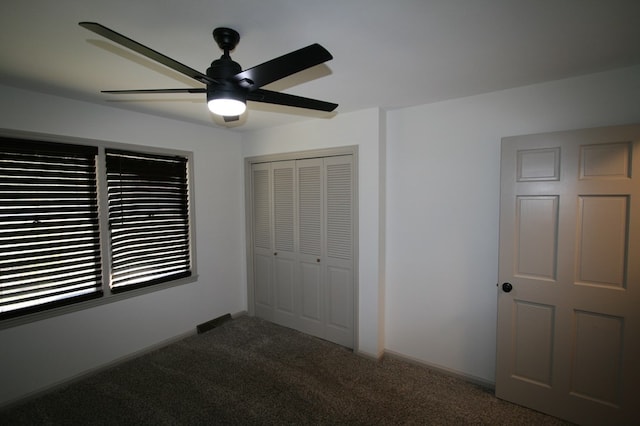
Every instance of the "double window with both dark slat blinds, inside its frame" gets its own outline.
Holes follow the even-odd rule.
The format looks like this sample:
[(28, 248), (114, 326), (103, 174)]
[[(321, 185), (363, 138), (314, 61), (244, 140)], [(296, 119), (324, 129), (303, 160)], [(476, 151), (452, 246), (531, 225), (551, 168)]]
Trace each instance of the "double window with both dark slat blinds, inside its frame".
[(189, 224), (186, 156), (0, 137), (0, 319), (191, 276)]

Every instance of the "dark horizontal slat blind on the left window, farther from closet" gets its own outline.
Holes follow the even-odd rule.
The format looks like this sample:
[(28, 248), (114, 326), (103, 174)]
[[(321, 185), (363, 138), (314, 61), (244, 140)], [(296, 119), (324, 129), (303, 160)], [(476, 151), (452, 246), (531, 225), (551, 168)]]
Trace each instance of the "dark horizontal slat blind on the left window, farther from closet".
[(102, 294), (97, 153), (0, 138), (0, 317)]

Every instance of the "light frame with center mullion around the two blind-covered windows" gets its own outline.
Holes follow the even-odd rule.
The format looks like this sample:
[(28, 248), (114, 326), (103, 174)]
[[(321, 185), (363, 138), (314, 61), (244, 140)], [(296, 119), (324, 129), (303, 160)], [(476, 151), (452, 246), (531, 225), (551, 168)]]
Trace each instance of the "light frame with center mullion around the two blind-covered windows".
[[(41, 321), (47, 318), (78, 312), (97, 306), (102, 306), (132, 297), (155, 293), (168, 288), (181, 286), (198, 280), (197, 255), (196, 255), (196, 220), (195, 220), (195, 174), (193, 168), (194, 154), (192, 151), (164, 148), (150, 145), (138, 145), (131, 143), (113, 142), (97, 139), (77, 138), (71, 136), (58, 136), (44, 133), (16, 131), (11, 129), (0, 129), (0, 136), (5, 138), (22, 139), (25, 141), (52, 142), (61, 144), (73, 144), (97, 147), (98, 154), (96, 160), (97, 178), (97, 198), (98, 198), (98, 218), (100, 226), (100, 248), (102, 261), (102, 296), (88, 300), (78, 300), (59, 307), (53, 307), (37, 312), (25, 313), (0, 320), (0, 330), (14, 326)], [(171, 281), (155, 283), (146, 286), (130, 288), (127, 290), (113, 291), (111, 288), (111, 239), (109, 230), (109, 205), (107, 188), (107, 169), (105, 150), (132, 151), (140, 154), (179, 156), (187, 160), (187, 206), (188, 206), (188, 227), (189, 227), (189, 256), (191, 275)]]

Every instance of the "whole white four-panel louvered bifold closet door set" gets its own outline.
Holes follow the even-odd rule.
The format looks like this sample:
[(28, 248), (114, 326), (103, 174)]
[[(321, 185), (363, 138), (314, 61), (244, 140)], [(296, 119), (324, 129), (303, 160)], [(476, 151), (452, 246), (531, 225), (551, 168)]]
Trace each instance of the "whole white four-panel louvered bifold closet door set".
[(250, 179), (253, 313), (353, 348), (353, 155), (255, 162)]

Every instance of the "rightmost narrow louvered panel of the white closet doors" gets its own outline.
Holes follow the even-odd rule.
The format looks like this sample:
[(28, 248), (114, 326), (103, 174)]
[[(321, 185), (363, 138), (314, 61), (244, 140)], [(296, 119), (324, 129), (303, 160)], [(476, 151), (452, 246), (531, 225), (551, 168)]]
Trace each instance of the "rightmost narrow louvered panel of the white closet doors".
[(325, 338), (353, 347), (354, 331), (354, 188), (353, 156), (328, 157), (325, 167), (326, 242), (323, 262)]

